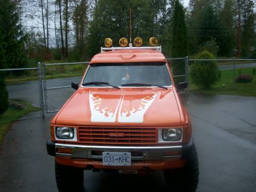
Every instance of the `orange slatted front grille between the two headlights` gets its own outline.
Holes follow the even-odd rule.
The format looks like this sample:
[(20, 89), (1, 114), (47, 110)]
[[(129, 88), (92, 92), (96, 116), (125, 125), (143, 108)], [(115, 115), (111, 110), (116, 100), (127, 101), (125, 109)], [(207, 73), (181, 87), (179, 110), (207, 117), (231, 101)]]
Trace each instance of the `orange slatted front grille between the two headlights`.
[(79, 142), (88, 144), (152, 145), (157, 142), (155, 128), (79, 127), (78, 131)]

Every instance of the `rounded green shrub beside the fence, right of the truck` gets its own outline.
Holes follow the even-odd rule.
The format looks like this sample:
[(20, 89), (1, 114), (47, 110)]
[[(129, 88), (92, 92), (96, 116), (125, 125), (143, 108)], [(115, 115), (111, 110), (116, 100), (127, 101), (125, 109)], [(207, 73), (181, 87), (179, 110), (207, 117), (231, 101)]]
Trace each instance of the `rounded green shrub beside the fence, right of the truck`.
[[(195, 55), (195, 59), (215, 59), (209, 51), (202, 51)], [(216, 61), (195, 61), (190, 67), (192, 82), (201, 88), (209, 89), (219, 78)]]

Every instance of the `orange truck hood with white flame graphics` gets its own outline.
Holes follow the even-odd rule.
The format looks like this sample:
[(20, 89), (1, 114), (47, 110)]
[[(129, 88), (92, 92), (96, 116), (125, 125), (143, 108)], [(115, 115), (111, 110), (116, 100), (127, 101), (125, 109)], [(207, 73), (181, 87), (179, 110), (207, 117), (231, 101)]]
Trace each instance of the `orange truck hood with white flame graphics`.
[(81, 88), (62, 107), (56, 124), (88, 126), (179, 126), (173, 88)]

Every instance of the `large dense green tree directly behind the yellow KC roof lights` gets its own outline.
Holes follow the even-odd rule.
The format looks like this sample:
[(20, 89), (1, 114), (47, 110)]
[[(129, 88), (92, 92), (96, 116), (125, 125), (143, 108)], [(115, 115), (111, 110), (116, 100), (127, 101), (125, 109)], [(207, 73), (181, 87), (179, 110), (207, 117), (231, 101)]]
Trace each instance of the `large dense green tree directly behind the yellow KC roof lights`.
[(130, 8), (132, 9), (132, 39), (139, 36), (143, 39), (143, 46), (148, 45), (151, 36), (158, 36), (161, 22), (167, 20), (166, 14), (164, 14), (164, 21), (159, 19), (159, 10), (165, 10), (166, 7), (163, 2), (154, 0), (97, 1), (89, 35), (91, 57), (99, 52), (106, 37), (113, 40), (114, 46), (119, 46), (118, 40), (121, 37), (129, 39)]

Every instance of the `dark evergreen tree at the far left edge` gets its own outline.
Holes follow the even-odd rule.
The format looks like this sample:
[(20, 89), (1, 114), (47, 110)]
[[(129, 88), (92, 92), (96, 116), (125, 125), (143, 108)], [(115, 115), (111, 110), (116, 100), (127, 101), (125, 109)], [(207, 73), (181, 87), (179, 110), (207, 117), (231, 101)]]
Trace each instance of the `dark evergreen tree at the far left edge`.
[[(15, 4), (0, 0), (0, 69), (22, 68), (26, 64), (24, 52), (25, 35), (21, 30)], [(8, 93), (3, 71), (0, 71), (0, 114), (8, 107)]]

